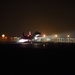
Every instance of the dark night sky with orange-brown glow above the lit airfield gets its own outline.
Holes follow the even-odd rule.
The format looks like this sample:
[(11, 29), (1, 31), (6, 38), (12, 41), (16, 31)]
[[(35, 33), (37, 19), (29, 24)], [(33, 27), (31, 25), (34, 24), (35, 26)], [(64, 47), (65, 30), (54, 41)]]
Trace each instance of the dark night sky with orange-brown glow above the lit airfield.
[(75, 4), (72, 1), (0, 1), (0, 35), (63, 33), (75, 30)]

